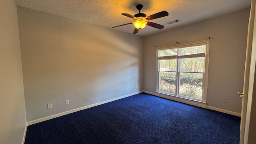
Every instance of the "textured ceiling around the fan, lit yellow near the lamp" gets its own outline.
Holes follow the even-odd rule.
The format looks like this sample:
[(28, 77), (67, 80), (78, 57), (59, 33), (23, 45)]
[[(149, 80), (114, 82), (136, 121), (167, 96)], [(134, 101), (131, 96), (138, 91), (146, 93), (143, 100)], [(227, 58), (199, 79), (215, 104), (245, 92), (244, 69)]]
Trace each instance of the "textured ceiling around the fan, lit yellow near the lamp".
[[(164, 25), (164, 29), (158, 30), (146, 26), (141, 30), (141, 36), (249, 8), (251, 4), (251, 0), (15, 0), (15, 2), (18, 6), (106, 28), (132, 22), (131, 18), (121, 13), (137, 14), (137, 4), (143, 5), (141, 12), (147, 16), (163, 10), (169, 13), (169, 16), (150, 20)], [(166, 24), (176, 19), (180, 22)], [(134, 26), (129, 24), (113, 29), (132, 34)]]

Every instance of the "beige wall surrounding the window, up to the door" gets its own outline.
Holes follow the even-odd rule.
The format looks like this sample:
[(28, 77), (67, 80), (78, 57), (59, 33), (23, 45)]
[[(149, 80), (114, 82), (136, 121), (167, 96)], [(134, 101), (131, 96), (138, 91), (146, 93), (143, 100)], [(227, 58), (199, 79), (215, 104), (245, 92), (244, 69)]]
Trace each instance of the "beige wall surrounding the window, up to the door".
[[(144, 38), (144, 90), (156, 90), (156, 48), (210, 40), (208, 106), (241, 112), (246, 40), (250, 9), (211, 18)], [(228, 99), (228, 103), (223, 103)]]

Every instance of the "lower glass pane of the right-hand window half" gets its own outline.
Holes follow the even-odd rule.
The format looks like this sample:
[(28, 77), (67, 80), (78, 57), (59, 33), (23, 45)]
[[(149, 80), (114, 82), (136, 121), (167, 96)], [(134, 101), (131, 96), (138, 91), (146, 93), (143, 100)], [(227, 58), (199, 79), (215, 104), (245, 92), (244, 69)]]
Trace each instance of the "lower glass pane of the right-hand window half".
[(179, 95), (202, 100), (203, 74), (180, 72)]

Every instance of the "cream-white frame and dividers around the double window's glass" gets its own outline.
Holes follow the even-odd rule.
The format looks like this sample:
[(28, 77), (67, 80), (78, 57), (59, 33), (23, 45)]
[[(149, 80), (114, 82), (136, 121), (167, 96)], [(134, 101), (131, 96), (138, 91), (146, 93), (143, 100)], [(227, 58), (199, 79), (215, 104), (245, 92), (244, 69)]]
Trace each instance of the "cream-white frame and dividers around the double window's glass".
[[(203, 74), (203, 87), (202, 87), (202, 100), (198, 100), (198, 99), (194, 99), (191, 97), (186, 97), (186, 96), (178, 96), (178, 92), (179, 92), (179, 84), (177, 84), (179, 82), (179, 75), (180, 75), (180, 66), (179, 66), (179, 56), (178, 56), (178, 48), (184, 48), (184, 47), (190, 47), (190, 46), (196, 46), (196, 45), (201, 45), (201, 44), (206, 44), (206, 51), (205, 51), (205, 61), (204, 61), (204, 72), (201, 72)], [(165, 92), (160, 92), (159, 91), (159, 62), (158, 60), (160, 60), (161, 58), (158, 57), (158, 51), (159, 50), (168, 50), (168, 49), (172, 49), (172, 48), (176, 48), (177, 49), (177, 55), (174, 57), (177, 57), (177, 67), (176, 67), (176, 92), (175, 94), (170, 94), (170, 93), (165, 93)], [(160, 93), (160, 94), (165, 94), (168, 96), (174, 96), (177, 98), (183, 98), (183, 99), (188, 99), (188, 100), (193, 100), (196, 102), (202, 102), (202, 103), (206, 103), (207, 100), (207, 85), (208, 85), (208, 67), (209, 67), (209, 49), (210, 49), (210, 40), (201, 40), (201, 41), (196, 41), (196, 42), (188, 42), (188, 43), (184, 43), (184, 44), (175, 44), (175, 45), (171, 45), (171, 46), (162, 46), (162, 47), (158, 47), (156, 48), (156, 92)], [(172, 56), (169, 56), (172, 57)], [(182, 56), (180, 56), (182, 57)], [(186, 55), (185, 57), (189, 57), (189, 55)], [(168, 58), (166, 58), (168, 59)], [(193, 73), (193, 72), (191, 72)], [(200, 72), (196, 72), (196, 73), (200, 73)]]

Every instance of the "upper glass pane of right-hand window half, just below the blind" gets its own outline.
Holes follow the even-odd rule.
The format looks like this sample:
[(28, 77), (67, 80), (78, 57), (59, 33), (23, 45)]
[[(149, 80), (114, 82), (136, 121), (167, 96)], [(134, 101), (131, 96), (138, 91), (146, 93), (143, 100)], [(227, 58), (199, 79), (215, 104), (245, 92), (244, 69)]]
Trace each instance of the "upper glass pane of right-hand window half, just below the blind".
[(182, 58), (180, 59), (181, 72), (204, 72), (204, 58)]

